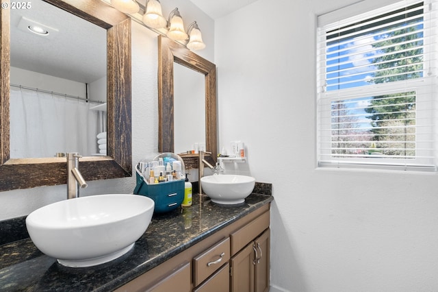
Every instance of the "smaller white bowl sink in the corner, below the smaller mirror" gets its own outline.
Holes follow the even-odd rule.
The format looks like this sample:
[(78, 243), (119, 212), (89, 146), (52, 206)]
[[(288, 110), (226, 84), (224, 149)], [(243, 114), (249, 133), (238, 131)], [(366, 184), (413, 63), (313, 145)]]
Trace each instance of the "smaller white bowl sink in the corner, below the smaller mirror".
[(240, 204), (250, 195), (255, 178), (246, 175), (209, 175), (201, 178), (201, 186), (212, 202), (218, 204)]

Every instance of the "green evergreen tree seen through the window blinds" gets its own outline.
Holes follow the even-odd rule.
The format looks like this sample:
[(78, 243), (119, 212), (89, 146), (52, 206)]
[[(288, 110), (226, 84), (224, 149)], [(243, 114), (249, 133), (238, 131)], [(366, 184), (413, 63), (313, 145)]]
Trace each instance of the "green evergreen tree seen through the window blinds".
[[(381, 53), (374, 58), (376, 73), (370, 82), (384, 83), (422, 77), (422, 35), (413, 27), (400, 28), (373, 45)], [(415, 92), (373, 97), (370, 113), (372, 141), (381, 154), (415, 156)], [(375, 149), (373, 150), (375, 151)]]

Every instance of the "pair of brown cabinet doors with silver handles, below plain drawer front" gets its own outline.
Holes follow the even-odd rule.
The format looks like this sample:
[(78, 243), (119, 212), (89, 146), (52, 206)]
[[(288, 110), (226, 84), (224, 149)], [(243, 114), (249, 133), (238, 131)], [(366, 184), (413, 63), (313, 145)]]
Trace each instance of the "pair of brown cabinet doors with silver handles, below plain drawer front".
[(231, 291), (269, 291), (270, 230), (231, 258)]

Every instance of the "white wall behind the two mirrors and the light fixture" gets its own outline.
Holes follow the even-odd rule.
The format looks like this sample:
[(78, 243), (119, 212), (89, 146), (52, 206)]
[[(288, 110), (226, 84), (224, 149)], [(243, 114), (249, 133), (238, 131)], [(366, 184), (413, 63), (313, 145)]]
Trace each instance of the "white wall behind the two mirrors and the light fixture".
[[(207, 47), (198, 54), (214, 60), (214, 21), (188, 0), (168, 0), (162, 3), (167, 16), (178, 6), (188, 25), (196, 20)], [(157, 34), (133, 21), (132, 23), (132, 152), (133, 167), (145, 156), (157, 154), (158, 94), (157, 94)], [(79, 162), (79, 169), (80, 169)], [(32, 169), (29, 169), (32, 171)], [(135, 173), (135, 171), (133, 171)], [(136, 178), (120, 178), (88, 182), (81, 196), (103, 193), (132, 193)], [(42, 186), (0, 193), (0, 221), (28, 215), (41, 206), (66, 199), (66, 185)]]

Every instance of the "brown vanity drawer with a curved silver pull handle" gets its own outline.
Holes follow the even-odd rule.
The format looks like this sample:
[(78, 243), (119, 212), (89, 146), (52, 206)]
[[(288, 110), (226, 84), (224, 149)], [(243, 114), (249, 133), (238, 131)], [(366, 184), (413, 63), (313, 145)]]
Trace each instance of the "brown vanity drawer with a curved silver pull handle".
[(194, 286), (201, 284), (217, 269), (222, 267), (230, 259), (230, 239), (220, 241), (208, 250), (193, 258), (193, 282)]

